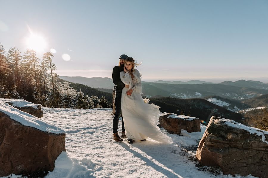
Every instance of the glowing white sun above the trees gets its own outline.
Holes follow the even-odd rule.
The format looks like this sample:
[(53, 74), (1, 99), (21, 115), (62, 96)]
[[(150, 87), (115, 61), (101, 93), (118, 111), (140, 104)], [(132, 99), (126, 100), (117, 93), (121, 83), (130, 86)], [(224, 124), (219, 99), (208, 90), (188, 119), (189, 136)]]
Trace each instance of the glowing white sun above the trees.
[(26, 45), (28, 49), (43, 52), (46, 48), (46, 40), (40, 34), (31, 33), (30, 36), (26, 38)]

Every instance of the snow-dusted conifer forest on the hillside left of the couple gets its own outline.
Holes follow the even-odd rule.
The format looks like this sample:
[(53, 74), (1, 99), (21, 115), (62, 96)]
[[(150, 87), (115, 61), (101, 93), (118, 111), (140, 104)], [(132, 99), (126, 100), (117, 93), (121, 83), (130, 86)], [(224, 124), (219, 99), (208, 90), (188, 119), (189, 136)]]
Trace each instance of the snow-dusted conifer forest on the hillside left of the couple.
[[(78, 85), (60, 81), (53, 63), (53, 53), (46, 52), (40, 60), (32, 49), (8, 51), (0, 42), (0, 98), (21, 98), (56, 108), (110, 108), (105, 96), (83, 93)], [(100, 93), (98, 93), (100, 94)]]

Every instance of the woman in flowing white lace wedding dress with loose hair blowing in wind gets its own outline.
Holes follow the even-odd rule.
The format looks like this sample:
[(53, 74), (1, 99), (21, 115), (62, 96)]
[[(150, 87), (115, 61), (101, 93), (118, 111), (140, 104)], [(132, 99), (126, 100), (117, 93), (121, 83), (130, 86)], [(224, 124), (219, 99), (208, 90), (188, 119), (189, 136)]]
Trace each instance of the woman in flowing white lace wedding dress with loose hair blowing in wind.
[(163, 134), (158, 124), (159, 106), (144, 103), (141, 97), (141, 74), (135, 66), (133, 58), (125, 60), (124, 71), (121, 71), (120, 78), (125, 84), (122, 90), (121, 109), (124, 116), (127, 142), (133, 140), (146, 141), (151, 138), (162, 143), (171, 143), (172, 139)]

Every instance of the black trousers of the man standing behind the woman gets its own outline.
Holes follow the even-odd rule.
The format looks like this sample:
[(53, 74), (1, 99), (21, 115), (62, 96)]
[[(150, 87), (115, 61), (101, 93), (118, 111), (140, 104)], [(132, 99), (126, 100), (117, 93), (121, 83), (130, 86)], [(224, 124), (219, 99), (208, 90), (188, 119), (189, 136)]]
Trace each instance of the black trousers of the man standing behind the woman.
[[(115, 94), (115, 98), (114, 98), (115, 115), (113, 117), (113, 133), (118, 132), (117, 131), (118, 130), (118, 122), (119, 122), (120, 116), (122, 115), (121, 96), (122, 96), (122, 90), (116, 90), (116, 94)], [(123, 116), (122, 116), (122, 131), (125, 131)]]

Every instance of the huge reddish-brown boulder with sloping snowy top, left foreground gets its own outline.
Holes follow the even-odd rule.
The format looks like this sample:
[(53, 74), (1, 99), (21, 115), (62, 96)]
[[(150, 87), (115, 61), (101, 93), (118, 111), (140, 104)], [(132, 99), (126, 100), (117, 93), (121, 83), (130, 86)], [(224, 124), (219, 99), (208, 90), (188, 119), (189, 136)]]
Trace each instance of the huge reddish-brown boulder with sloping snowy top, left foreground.
[(62, 151), (62, 129), (0, 101), (0, 177), (53, 171)]

